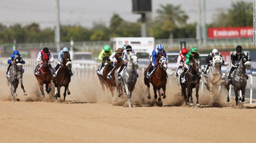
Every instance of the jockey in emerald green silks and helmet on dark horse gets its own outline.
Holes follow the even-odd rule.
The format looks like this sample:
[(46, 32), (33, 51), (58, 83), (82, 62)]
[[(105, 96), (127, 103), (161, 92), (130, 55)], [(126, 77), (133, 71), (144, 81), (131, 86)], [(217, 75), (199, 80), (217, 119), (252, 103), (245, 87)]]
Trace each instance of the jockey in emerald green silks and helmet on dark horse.
[[(190, 68), (190, 66), (193, 66), (193, 63), (190, 63), (190, 60), (191, 59), (199, 59), (200, 58), (200, 55), (197, 53), (197, 48), (196, 47), (192, 47), (190, 49), (190, 51), (187, 53), (186, 55), (186, 62), (185, 62), (185, 68), (184, 68), (184, 76), (183, 78), (181, 78), (181, 83), (185, 83), (186, 82), (186, 79), (185, 79), (185, 76), (186, 76), (186, 73), (187, 73), (187, 70)], [(199, 75), (199, 77), (201, 78), (201, 75)]]

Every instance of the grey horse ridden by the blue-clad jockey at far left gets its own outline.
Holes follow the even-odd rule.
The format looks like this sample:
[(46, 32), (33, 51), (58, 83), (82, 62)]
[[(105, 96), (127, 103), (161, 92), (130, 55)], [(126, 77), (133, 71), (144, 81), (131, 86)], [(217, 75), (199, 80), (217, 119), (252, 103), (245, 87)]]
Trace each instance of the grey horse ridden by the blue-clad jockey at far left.
[[(23, 75), (22, 59), (19, 56), (17, 56), (14, 59), (14, 63), (9, 71), (10, 71), (10, 77), (7, 76), (7, 80), (8, 80), (8, 85), (11, 89), (12, 102), (14, 102), (14, 97), (17, 97), (16, 89), (19, 83), (21, 83), (23, 94), (27, 95), (26, 91), (24, 90), (23, 81), (22, 81), (22, 75)], [(13, 90), (13, 87), (14, 87), (14, 90)]]

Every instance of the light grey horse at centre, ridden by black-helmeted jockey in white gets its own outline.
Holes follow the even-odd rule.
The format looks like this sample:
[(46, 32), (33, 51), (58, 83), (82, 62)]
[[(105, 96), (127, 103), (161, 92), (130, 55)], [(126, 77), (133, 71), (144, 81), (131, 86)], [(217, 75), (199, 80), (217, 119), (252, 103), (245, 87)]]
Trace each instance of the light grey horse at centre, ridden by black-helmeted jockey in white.
[(118, 97), (120, 97), (123, 94), (122, 85), (124, 85), (129, 107), (132, 108), (133, 106), (131, 105), (131, 97), (132, 97), (132, 92), (134, 90), (135, 84), (137, 82), (137, 74), (135, 70), (139, 68), (139, 65), (138, 65), (138, 57), (131, 52), (130, 54), (128, 54), (128, 60), (129, 61), (127, 63), (127, 67), (123, 70), (122, 78), (118, 79), (118, 75), (116, 75), (115, 82), (117, 85)]

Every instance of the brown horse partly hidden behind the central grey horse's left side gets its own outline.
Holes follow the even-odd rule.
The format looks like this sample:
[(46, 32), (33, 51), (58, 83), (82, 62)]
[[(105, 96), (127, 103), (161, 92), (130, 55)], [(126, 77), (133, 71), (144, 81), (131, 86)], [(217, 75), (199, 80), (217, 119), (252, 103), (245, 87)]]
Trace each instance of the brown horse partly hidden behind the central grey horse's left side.
[[(122, 57), (119, 57), (117, 59), (117, 62), (115, 63), (115, 65), (116, 66), (114, 67), (113, 71), (117, 70), (119, 67), (121, 67), (121, 65), (123, 65)], [(108, 83), (109, 90), (112, 93), (112, 97), (114, 97), (113, 86), (117, 87), (116, 83), (115, 83), (115, 73), (114, 72), (111, 73), (111, 77), (112, 77), (111, 79), (107, 78), (107, 83)]]

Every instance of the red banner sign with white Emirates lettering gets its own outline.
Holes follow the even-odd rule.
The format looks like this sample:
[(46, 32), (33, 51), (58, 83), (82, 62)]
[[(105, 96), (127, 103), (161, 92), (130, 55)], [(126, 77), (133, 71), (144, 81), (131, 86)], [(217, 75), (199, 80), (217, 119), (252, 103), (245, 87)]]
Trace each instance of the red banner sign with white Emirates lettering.
[(253, 27), (208, 28), (208, 38), (253, 37)]

